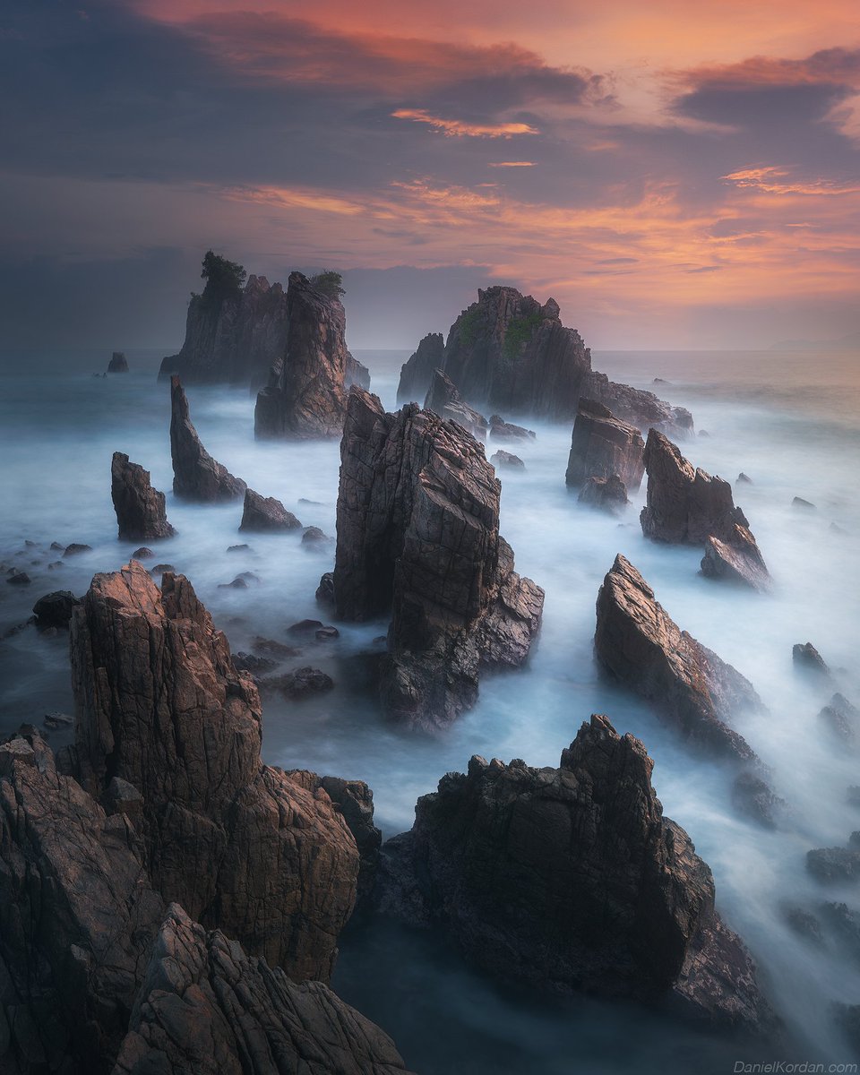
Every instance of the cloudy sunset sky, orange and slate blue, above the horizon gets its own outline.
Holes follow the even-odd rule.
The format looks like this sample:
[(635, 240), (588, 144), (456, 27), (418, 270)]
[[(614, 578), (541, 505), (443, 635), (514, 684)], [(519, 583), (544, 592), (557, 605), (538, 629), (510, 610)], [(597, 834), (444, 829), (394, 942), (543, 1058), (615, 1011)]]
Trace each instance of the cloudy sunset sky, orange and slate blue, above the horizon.
[(860, 331), (856, 0), (4, 0), (0, 148), (0, 347), (175, 349), (209, 247), (354, 348)]

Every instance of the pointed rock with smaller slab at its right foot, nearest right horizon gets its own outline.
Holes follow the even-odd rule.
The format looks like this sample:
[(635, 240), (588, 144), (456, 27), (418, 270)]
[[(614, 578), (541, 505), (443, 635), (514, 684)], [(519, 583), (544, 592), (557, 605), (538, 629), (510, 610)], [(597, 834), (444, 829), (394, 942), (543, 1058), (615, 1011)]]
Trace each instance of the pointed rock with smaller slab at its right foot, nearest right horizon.
[(646, 538), (704, 544), (703, 574), (766, 589), (768, 568), (744, 513), (735, 507), (731, 484), (693, 468), (656, 429), (648, 432), (644, 460), (648, 488), (640, 520)]

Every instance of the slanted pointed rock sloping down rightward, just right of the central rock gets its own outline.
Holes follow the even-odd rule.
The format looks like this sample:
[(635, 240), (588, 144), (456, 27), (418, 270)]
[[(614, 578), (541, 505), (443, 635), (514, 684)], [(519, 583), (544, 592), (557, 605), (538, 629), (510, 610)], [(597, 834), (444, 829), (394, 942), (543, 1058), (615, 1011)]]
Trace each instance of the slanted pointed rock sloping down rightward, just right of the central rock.
[(594, 654), (607, 672), (651, 702), (685, 740), (717, 754), (755, 758), (728, 723), (744, 710), (761, 708), (752, 685), (682, 631), (620, 554), (598, 593)]

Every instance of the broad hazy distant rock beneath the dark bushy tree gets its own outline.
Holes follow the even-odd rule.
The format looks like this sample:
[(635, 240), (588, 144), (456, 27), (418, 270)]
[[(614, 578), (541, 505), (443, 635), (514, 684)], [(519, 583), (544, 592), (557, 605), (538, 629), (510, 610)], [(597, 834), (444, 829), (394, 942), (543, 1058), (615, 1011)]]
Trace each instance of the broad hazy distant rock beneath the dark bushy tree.
[(248, 276), (234, 296), (206, 285), (191, 296), (185, 342), (161, 362), (159, 379), (178, 374), (188, 385), (230, 384), (259, 388), (287, 344), (287, 297), (281, 284)]

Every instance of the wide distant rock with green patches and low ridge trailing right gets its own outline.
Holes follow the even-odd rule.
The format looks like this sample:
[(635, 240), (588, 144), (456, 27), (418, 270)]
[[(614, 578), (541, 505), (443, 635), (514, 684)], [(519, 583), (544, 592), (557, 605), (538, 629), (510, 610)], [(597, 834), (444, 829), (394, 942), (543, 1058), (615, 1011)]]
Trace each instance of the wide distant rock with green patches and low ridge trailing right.
[(684, 407), (593, 371), (590, 350), (561, 324), (555, 299), (541, 305), (513, 287), (479, 290), (477, 302), (452, 325), (444, 348), (441, 335), (426, 336), (401, 370), (398, 402), (424, 399), (436, 368), (482, 411), (565, 421), (584, 396), (641, 428), (659, 426), (677, 435), (692, 428)]

